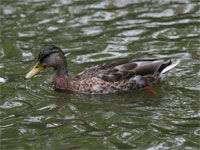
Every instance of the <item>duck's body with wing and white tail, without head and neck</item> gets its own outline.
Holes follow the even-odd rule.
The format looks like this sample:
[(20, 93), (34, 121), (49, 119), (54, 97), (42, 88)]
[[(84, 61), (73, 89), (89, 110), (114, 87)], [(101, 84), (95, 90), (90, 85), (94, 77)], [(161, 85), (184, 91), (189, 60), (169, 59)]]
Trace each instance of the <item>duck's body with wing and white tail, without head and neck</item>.
[(153, 86), (178, 63), (178, 60), (131, 59), (95, 65), (75, 76), (70, 90), (90, 94), (131, 92)]

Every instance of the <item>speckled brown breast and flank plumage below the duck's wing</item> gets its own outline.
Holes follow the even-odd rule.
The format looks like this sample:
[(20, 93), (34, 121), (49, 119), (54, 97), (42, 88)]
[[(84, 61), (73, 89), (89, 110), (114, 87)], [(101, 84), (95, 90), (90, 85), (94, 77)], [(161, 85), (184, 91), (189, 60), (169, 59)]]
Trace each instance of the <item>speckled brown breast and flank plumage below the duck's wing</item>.
[(53, 85), (56, 91), (69, 91), (85, 94), (126, 93), (146, 86), (153, 86), (161, 80), (157, 75), (135, 76), (129, 79), (109, 82), (98, 77), (86, 80), (73, 80), (54, 77)]

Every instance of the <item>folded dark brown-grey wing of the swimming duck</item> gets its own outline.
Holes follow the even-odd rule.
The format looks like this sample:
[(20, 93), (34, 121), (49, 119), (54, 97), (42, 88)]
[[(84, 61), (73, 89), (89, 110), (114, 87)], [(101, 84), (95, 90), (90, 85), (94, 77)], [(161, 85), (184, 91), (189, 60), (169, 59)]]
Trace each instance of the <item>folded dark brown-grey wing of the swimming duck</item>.
[(161, 73), (171, 63), (172, 61), (169, 59), (118, 60), (87, 68), (75, 76), (75, 79), (85, 80), (98, 77), (108, 82), (115, 82), (130, 79), (136, 75), (144, 76), (147, 74)]

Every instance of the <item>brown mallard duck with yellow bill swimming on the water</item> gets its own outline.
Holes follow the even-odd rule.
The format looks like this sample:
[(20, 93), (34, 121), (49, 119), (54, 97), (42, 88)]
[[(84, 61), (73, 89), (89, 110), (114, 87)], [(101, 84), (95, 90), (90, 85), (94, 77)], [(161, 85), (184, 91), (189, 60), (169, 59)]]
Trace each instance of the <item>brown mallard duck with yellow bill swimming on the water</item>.
[(125, 93), (152, 87), (179, 62), (170, 59), (117, 60), (86, 68), (71, 78), (68, 76), (67, 62), (62, 50), (57, 46), (47, 46), (40, 51), (37, 63), (26, 74), (25, 79), (52, 67), (55, 71), (53, 86), (56, 91), (85, 94)]

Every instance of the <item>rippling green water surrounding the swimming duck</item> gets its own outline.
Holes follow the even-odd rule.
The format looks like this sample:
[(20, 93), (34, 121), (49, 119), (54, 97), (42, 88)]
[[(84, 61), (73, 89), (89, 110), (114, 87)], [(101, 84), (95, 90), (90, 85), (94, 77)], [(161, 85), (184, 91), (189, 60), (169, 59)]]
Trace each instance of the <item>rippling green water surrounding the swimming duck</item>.
[[(1, 149), (199, 149), (198, 0), (1, 1)], [(97, 96), (57, 93), (51, 69), (24, 75), (45, 45), (73, 76), (121, 58), (179, 58), (154, 88)]]

